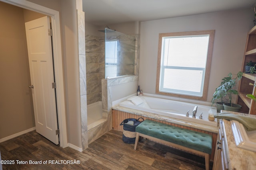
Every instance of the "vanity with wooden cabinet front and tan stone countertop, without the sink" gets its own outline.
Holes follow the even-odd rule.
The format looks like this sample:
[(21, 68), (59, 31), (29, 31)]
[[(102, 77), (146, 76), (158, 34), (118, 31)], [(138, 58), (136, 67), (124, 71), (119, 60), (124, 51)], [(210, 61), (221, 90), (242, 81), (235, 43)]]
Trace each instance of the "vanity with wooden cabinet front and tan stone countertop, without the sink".
[[(230, 113), (256, 117), (256, 115), (232, 111)], [(256, 152), (237, 147), (230, 121), (219, 119), (219, 122), (219, 136), (216, 142), (213, 170), (255, 170)]]

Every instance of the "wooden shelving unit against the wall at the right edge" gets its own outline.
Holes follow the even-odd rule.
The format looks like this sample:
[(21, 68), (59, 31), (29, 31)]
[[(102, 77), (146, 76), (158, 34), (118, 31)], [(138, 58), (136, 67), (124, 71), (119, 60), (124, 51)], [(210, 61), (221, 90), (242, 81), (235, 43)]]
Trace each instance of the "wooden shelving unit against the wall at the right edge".
[[(245, 72), (244, 67), (249, 61), (256, 62), (256, 26), (254, 26), (247, 35), (242, 72)], [(249, 83), (256, 83), (255, 76), (256, 74), (244, 73), (242, 80), (239, 82), (237, 104), (242, 106), (240, 110), (242, 113), (256, 115), (256, 102), (246, 97), (246, 94), (256, 96), (255, 87), (249, 85)]]

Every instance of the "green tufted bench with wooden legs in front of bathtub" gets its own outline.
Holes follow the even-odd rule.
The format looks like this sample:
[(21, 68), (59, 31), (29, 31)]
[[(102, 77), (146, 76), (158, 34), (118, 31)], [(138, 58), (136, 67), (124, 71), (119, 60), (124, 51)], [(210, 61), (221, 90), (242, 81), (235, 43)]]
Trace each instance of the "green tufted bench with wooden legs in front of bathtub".
[(212, 136), (209, 134), (146, 119), (136, 127), (134, 150), (137, 148), (140, 136), (204, 156), (205, 168), (209, 170), (209, 158), (212, 153)]

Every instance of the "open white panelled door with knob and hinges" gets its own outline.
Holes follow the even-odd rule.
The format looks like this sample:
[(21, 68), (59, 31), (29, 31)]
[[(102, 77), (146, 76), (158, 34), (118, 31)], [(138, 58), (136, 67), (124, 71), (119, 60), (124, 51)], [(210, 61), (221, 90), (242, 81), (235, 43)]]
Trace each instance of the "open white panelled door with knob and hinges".
[(59, 144), (50, 18), (25, 23), (36, 131)]

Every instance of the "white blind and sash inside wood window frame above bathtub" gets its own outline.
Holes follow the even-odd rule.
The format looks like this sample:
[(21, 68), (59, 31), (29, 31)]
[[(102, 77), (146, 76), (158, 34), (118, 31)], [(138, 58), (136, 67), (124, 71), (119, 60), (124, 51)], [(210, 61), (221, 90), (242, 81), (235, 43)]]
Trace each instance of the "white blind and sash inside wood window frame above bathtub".
[(160, 92), (202, 96), (209, 37), (162, 37)]

